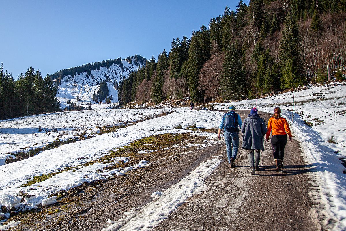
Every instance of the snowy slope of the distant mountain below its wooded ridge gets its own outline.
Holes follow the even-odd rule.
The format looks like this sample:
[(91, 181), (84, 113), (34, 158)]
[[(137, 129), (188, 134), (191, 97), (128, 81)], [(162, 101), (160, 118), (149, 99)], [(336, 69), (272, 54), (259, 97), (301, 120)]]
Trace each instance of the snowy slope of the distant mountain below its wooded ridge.
[[(141, 62), (135, 62), (134, 58), (131, 60), (132, 64), (128, 59), (122, 60), (122, 67), (119, 64), (113, 64), (107, 68), (102, 66), (100, 70), (92, 70), (90, 75), (88, 72), (77, 73), (74, 77), (71, 75), (63, 76), (61, 84), (58, 87), (57, 97), (60, 100), (62, 108), (67, 106), (67, 100), (70, 99), (72, 102), (79, 104), (97, 102), (92, 100), (94, 92), (100, 88), (100, 81), (106, 80), (109, 96), (112, 96), (112, 102), (118, 102), (118, 90), (114, 88), (114, 81), (120, 81), (120, 77), (128, 77), (131, 71), (136, 71), (138, 63), (140, 66), (144, 64)], [(79, 94), (80, 101), (77, 102), (77, 95)], [(103, 100), (104, 102), (104, 100)]]

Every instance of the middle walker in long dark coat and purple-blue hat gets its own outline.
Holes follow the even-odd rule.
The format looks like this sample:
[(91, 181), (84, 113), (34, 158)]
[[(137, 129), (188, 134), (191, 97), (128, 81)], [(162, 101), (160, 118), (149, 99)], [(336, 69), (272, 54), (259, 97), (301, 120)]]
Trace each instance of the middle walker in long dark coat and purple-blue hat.
[[(257, 114), (257, 108), (252, 108), (251, 113), (244, 119), (241, 131), (243, 133), (242, 149), (248, 150), (248, 158), (251, 168), (251, 175), (255, 174), (255, 170), (260, 170), (260, 151), (264, 151), (263, 136), (267, 132), (264, 120)], [(256, 155), (254, 157), (254, 152)]]

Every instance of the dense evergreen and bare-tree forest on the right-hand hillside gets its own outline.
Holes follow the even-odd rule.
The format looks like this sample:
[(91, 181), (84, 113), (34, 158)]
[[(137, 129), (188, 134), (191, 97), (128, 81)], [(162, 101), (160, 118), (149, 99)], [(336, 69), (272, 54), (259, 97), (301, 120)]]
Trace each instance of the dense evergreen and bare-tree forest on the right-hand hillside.
[(345, 0), (240, 0), (122, 78), (119, 103), (251, 99), (342, 80), (345, 19)]

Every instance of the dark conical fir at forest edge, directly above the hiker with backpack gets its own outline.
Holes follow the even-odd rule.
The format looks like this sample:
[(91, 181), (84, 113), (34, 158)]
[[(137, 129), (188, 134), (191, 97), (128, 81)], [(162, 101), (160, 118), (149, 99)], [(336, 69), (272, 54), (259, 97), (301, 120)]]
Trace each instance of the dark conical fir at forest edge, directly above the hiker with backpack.
[(242, 99), (245, 97), (245, 74), (239, 51), (230, 44), (222, 64), (221, 95), (224, 99)]

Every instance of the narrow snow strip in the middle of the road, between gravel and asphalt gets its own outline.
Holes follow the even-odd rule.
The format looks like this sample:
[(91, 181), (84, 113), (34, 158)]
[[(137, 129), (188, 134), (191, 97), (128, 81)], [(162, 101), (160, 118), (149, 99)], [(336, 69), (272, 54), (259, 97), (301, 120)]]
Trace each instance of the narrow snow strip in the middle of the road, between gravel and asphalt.
[(108, 220), (103, 231), (121, 230), (152, 230), (162, 220), (194, 194), (206, 190), (204, 181), (218, 167), (222, 159), (220, 157), (202, 162), (191, 174), (179, 183), (172, 185), (163, 192), (154, 192), (151, 197), (153, 201), (148, 204), (132, 208), (126, 212), (118, 221)]

